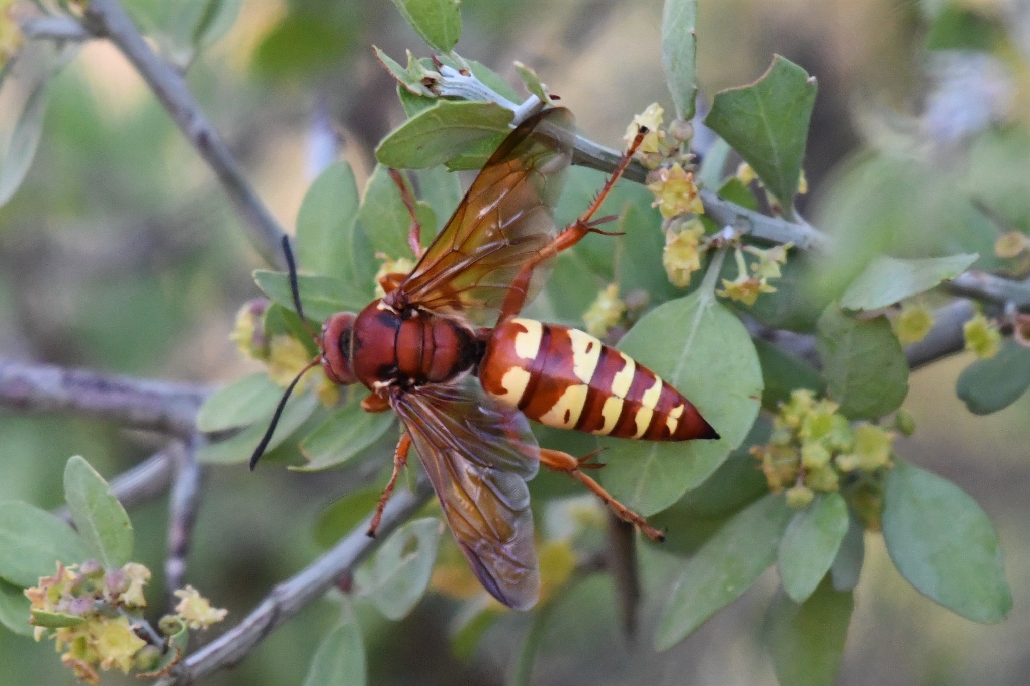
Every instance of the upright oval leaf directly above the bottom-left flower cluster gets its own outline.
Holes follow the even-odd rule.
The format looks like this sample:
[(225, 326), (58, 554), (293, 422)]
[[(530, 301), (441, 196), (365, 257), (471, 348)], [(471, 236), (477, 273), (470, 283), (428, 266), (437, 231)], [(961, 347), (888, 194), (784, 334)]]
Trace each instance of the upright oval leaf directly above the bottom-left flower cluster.
[(75, 529), (100, 564), (115, 570), (128, 563), (132, 557), (132, 522), (107, 481), (76, 455), (65, 466), (64, 486)]

